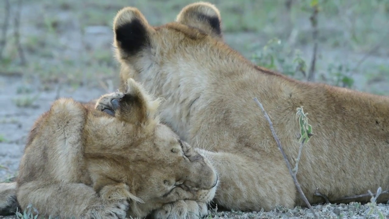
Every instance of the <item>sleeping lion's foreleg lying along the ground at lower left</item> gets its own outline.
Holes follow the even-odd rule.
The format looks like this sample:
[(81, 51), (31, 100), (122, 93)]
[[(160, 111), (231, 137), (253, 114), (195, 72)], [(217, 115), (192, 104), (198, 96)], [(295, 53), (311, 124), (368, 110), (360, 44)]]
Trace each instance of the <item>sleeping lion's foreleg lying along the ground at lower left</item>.
[(100, 192), (107, 198), (100, 198), (92, 187), (85, 184), (47, 185), (33, 181), (18, 188), (17, 198), (22, 209), (31, 203), (40, 215), (46, 217), (124, 219), (129, 204), (122, 195), (123, 191), (125, 188), (120, 186), (112, 189), (107, 185)]

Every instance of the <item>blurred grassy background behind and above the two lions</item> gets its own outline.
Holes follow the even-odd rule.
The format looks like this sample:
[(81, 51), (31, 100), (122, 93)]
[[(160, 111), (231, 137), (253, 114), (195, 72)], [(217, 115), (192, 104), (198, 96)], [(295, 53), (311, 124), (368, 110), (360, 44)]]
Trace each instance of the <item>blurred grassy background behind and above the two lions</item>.
[[(118, 85), (112, 21), (135, 6), (151, 25), (193, 0), (1, 0), (0, 179), (14, 175), (36, 118), (58, 97), (89, 101)], [(389, 93), (389, 0), (209, 0), (225, 41), (300, 80)]]

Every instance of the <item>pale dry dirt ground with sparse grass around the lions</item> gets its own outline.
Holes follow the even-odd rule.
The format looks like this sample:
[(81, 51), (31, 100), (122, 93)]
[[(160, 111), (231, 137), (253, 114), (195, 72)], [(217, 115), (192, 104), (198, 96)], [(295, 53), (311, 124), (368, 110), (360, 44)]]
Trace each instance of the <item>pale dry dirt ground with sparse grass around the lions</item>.
[[(16, 0), (10, 2), (12, 23), (12, 16), (18, 8)], [(193, 1), (24, 1), (20, 34), (27, 63), (20, 63), (12, 25), (7, 31), (7, 46), (0, 60), (0, 101), (3, 106), (0, 108), (0, 165), (5, 167), (0, 168), (0, 181), (16, 175), (28, 131), (35, 119), (49, 109), (56, 98), (73, 97), (79, 101), (89, 101), (116, 89), (118, 71), (117, 63), (112, 58), (110, 25), (118, 9), (135, 5), (144, 12), (151, 24), (157, 25), (173, 20), (179, 10), (190, 2)], [(277, 13), (285, 14), (282, 4), (265, 0), (261, 3), (247, 0), (239, 4), (231, 0), (211, 2), (221, 9), (226, 42), (247, 58), (252, 58), (252, 54), (260, 51), (269, 39), (279, 37), (290, 42), (293, 49), (300, 49), (307, 62), (310, 60), (313, 43), (307, 18), (309, 13), (303, 14), (297, 7), (292, 14), (293, 26), (283, 26), (284, 17), (277, 16)], [(389, 46), (387, 40), (382, 40), (389, 39), (385, 32), (387, 28), (383, 28), (389, 26), (389, 19), (382, 15), (387, 11), (382, 11), (382, 5), (374, 4), (371, 5), (376, 8), (371, 6), (369, 11), (365, 9), (366, 5), (353, 4), (354, 0), (329, 2), (342, 7), (339, 11), (347, 9), (347, 13), (343, 17), (333, 16), (336, 19), (326, 15), (320, 17), (322, 39), (319, 41), (317, 80), (331, 78), (333, 82), (333, 78), (341, 74), (354, 80), (352, 89), (388, 94)], [(389, 5), (387, 2), (385, 4)], [(2, 3), (0, 7), (3, 7), (0, 9), (2, 25), (5, 10)], [(344, 26), (347, 25), (349, 29), (354, 29), (346, 31)], [(298, 34), (288, 37), (284, 29), (295, 30), (294, 33)], [(350, 36), (352, 31), (361, 33), (356, 34), (356, 40)], [(351, 38), (355, 42), (351, 42)], [(282, 50), (275, 55), (282, 56), (284, 52)], [(329, 70), (331, 64), (336, 70)], [(347, 67), (350, 71), (345, 70)], [(368, 206), (350, 203), (317, 205), (314, 208), (321, 218), (362, 218)], [(385, 218), (389, 218), (389, 205), (380, 204), (377, 209)], [(377, 218), (377, 214), (373, 213), (370, 217)], [(312, 218), (312, 214), (306, 208), (279, 207), (272, 212), (211, 210), (209, 218)]]

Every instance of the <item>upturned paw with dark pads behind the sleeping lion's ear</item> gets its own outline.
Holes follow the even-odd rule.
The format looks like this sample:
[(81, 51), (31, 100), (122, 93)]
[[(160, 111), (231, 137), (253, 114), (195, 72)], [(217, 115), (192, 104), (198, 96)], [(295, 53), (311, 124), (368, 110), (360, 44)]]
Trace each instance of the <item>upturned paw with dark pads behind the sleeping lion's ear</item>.
[(121, 92), (114, 92), (102, 95), (96, 102), (95, 108), (97, 110), (108, 113), (114, 116), (115, 110), (119, 108), (120, 99), (124, 96)]

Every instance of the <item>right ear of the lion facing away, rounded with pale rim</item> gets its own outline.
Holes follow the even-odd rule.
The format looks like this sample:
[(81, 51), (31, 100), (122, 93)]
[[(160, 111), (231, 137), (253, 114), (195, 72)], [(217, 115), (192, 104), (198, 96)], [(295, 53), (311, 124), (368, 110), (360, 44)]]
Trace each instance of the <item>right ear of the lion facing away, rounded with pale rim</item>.
[(209, 2), (196, 2), (185, 6), (177, 15), (176, 21), (223, 39), (219, 9)]

